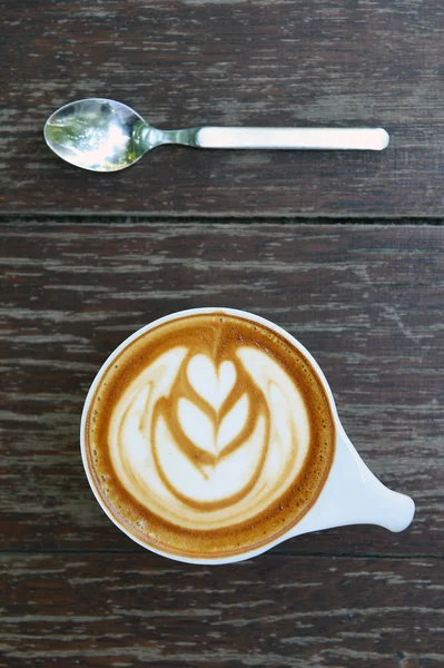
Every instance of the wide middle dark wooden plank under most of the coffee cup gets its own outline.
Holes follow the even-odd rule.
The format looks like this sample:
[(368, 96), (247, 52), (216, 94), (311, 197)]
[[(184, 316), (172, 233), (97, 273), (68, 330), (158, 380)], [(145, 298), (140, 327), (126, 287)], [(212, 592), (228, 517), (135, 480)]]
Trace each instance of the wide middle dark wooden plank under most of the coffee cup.
[(221, 305), (287, 328), (319, 362), (346, 431), (417, 514), (352, 527), (296, 554), (441, 554), (444, 227), (11, 220), (0, 242), (3, 549), (139, 551), (96, 503), (79, 419), (97, 370), (131, 332)]

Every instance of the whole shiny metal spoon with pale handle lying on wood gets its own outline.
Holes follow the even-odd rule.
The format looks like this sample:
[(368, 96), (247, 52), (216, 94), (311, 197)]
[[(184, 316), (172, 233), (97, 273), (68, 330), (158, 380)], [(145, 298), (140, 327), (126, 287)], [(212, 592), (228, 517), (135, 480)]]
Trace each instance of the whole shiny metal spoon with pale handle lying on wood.
[(106, 98), (60, 107), (45, 124), (45, 139), (67, 163), (91, 171), (117, 171), (161, 144), (195, 148), (366, 149), (388, 145), (383, 128), (203, 127), (159, 130), (122, 102)]

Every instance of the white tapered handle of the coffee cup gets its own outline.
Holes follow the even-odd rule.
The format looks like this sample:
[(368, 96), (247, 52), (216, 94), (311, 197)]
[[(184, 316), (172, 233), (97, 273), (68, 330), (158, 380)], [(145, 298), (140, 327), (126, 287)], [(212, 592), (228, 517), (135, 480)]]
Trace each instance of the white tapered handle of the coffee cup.
[(414, 514), (413, 500), (379, 482), (338, 423), (335, 458), (327, 481), (290, 536), (347, 524), (377, 524), (398, 532), (411, 524)]

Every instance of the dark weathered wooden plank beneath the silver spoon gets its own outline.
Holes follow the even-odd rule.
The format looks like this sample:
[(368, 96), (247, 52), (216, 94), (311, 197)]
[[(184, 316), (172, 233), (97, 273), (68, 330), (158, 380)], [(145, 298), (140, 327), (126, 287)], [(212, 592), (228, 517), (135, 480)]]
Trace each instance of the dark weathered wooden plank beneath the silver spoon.
[[(0, 210), (436, 216), (441, 0), (1, 2)], [(6, 65), (8, 63), (8, 65)], [(382, 125), (382, 154), (164, 148), (96, 175), (42, 127), (105, 96), (160, 127)]]

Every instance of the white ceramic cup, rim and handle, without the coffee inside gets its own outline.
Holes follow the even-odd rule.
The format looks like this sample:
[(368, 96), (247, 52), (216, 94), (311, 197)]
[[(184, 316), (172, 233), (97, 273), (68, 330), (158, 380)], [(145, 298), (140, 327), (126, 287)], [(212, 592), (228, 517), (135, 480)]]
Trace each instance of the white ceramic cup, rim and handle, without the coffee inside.
[[(100, 383), (105, 371), (124, 348), (126, 348), (135, 338), (139, 337), (141, 334), (145, 334), (149, 330), (157, 327), (162, 323), (167, 323), (189, 315), (198, 315), (213, 312), (226, 313), (227, 315), (234, 316), (237, 315), (243, 318), (248, 318), (254, 323), (258, 323), (259, 325), (265, 325), (270, 330), (277, 332), (284, 338), (286, 338), (294, 347), (299, 350), (309, 360), (313, 369), (315, 370), (319, 380), (322, 381), (326, 395), (329, 400), (336, 428), (336, 443), (335, 454), (328, 477), (316, 502), (296, 524), (290, 527), (290, 529), (286, 533), (279, 536), (279, 538), (275, 540), (270, 540), (269, 543), (262, 546), (258, 549), (248, 550), (243, 552), (241, 554), (211, 559), (193, 559), (188, 557), (180, 557), (178, 554), (169, 554), (168, 552), (157, 550), (150, 544), (140, 541), (136, 537), (131, 536), (131, 533), (128, 532), (124, 524), (120, 523), (119, 520), (111, 514), (110, 510), (103, 503), (100, 494), (98, 493), (89, 471), (86, 456), (85, 433), (90, 402), (92, 401), (97, 385)], [(398, 492), (394, 492), (386, 488), (384, 484), (382, 484), (382, 482), (377, 480), (377, 478), (372, 473), (372, 471), (369, 471), (369, 469), (366, 466), (366, 464), (363, 462), (363, 460), (356, 452), (355, 448), (352, 445), (347, 434), (344, 431), (343, 425), (341, 424), (335, 401), (333, 399), (332, 391), (324, 376), (324, 373), (322, 372), (317, 362), (307, 351), (307, 348), (305, 348), (296, 338), (294, 338), (290, 334), (288, 334), (288, 332), (286, 332), (278, 325), (275, 325), (274, 323), (258, 315), (254, 315), (251, 313), (234, 308), (190, 308), (188, 311), (172, 313), (150, 323), (149, 325), (146, 325), (145, 327), (141, 327), (141, 330), (138, 330), (137, 332), (131, 334), (131, 336), (129, 336), (126, 341), (124, 341), (114, 351), (114, 353), (111, 353), (111, 355), (101, 366), (88, 392), (81, 416), (80, 449), (89, 484), (91, 485), (97, 501), (99, 502), (103, 511), (107, 513), (107, 515), (110, 518), (110, 520), (119, 529), (121, 529), (124, 533), (126, 533), (129, 538), (131, 538), (134, 541), (136, 541), (144, 548), (147, 548), (148, 550), (151, 550), (151, 552), (156, 552), (157, 554), (175, 559), (176, 561), (185, 561), (188, 563), (201, 564), (234, 563), (236, 561), (243, 561), (245, 559), (257, 557), (258, 554), (269, 550), (278, 543), (288, 540), (289, 538), (300, 536), (302, 533), (309, 533), (310, 531), (318, 531), (319, 529), (330, 529), (332, 527), (345, 527), (347, 524), (377, 524), (379, 527), (385, 527), (389, 531), (398, 532), (403, 531), (411, 524), (413, 515), (415, 513), (415, 504), (413, 500), (410, 497), (406, 497), (405, 494), (399, 494)]]

